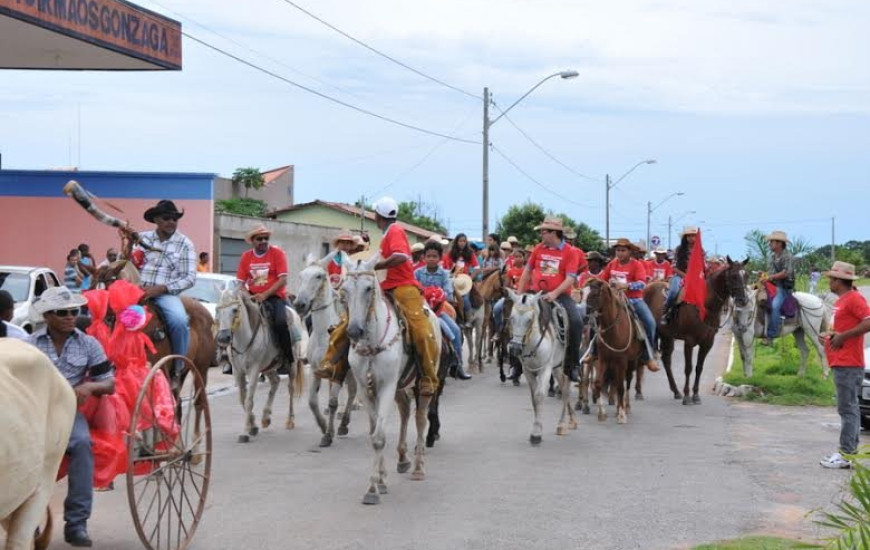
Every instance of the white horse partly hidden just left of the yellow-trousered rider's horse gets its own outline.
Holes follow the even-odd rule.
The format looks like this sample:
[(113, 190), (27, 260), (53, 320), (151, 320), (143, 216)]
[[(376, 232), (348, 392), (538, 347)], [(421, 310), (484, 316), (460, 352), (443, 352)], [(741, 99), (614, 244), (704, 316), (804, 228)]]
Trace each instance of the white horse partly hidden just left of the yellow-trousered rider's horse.
[[(326, 268), (334, 256), (335, 252), (319, 261), (309, 259), (308, 267), (299, 273), (299, 289), (296, 292), (296, 299), (293, 301), (296, 311), (301, 316), (311, 316), (311, 337), (308, 341), (308, 364), (311, 365), (311, 368), (317, 368), (323, 361), (326, 350), (329, 348), (329, 330), (336, 326), (340, 320), (341, 305), (329, 282), (329, 274), (326, 272)], [(345, 256), (344, 262), (349, 261)], [(344, 406), (341, 424), (338, 426), (338, 435), (347, 435), (350, 413), (356, 399), (356, 380), (350, 376), (345, 381), (347, 382), (347, 402)], [(320, 409), (320, 378), (312, 376), (310, 384), (308, 406), (323, 433), (320, 446), (329, 447), (335, 437), (335, 414), (338, 411), (341, 384), (330, 383), (329, 385), (328, 422)]]

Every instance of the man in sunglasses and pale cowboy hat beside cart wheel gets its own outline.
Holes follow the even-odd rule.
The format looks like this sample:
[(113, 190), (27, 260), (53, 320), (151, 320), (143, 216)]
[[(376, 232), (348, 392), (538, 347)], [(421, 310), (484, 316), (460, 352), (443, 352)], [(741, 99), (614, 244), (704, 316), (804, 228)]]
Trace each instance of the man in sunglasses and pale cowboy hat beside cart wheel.
[[(67, 379), (81, 405), (90, 397), (115, 391), (115, 368), (92, 336), (75, 328), (79, 309), (87, 300), (66, 287), (47, 289), (33, 303), (45, 318), (45, 328), (28, 342), (51, 359)], [(76, 547), (90, 547), (88, 519), (94, 499), (94, 455), (88, 421), (76, 412), (67, 446), (69, 489), (64, 501), (64, 539)]]

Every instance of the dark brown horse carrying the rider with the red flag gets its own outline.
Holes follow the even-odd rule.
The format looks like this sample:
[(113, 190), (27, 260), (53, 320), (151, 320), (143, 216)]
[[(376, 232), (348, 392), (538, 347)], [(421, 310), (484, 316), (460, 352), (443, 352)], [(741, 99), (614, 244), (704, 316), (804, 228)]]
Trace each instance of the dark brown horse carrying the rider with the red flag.
[[(659, 339), (661, 341), (662, 362), (668, 375), (668, 384), (674, 394), (674, 399), (683, 399), (683, 405), (701, 403), (698, 386), (701, 383), (701, 373), (704, 371), (704, 360), (713, 347), (713, 338), (720, 328), (722, 310), (731, 298), (735, 307), (745, 307), (747, 304), (744, 266), (749, 262), (735, 262), (726, 258), (728, 265), (720, 268), (706, 277), (707, 300), (704, 304), (707, 317), (700, 319), (698, 308), (691, 304), (681, 304), (667, 324), (659, 324)], [(671, 356), (674, 352), (674, 340), (683, 341), (683, 357), (685, 359), (686, 383), (683, 393), (677, 389), (674, 374), (671, 370)], [(695, 383), (692, 386), (692, 397), (689, 397), (689, 381), (692, 377), (692, 350), (698, 347), (698, 362), (695, 366)]]

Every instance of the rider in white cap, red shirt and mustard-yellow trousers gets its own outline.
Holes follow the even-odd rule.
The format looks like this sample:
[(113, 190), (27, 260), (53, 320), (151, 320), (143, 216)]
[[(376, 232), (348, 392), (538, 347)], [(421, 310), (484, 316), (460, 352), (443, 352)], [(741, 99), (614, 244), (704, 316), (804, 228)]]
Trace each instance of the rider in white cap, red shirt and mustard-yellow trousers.
[[(384, 197), (374, 204), (375, 222), (384, 232), (381, 239), (381, 260), (374, 269), (387, 271), (386, 279), (381, 283), (384, 291), (391, 291), (396, 308), (402, 313), (408, 324), (411, 340), (417, 354), (417, 360), (422, 370), (420, 395), (430, 397), (438, 389), (438, 372), (436, 364), (439, 351), (435, 335), (426, 316), (423, 295), (420, 284), (414, 278), (411, 266), (411, 247), (405, 229), (396, 223), (399, 206), (390, 197)], [(314, 371), (318, 378), (328, 378), (334, 381), (342, 380), (347, 373), (347, 318), (343, 319), (332, 331), (329, 338), (329, 349), (326, 351), (323, 363)]]

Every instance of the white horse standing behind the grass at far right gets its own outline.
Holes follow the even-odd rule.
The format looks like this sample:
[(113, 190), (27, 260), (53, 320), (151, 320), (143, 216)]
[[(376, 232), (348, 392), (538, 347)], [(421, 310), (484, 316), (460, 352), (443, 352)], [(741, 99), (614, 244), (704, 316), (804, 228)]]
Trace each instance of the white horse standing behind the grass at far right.
[[(759, 305), (758, 291), (747, 289), (746, 296), (745, 306), (740, 307), (736, 304), (734, 306), (731, 331), (734, 333), (734, 339), (737, 340), (737, 347), (740, 349), (740, 357), (743, 359), (743, 372), (748, 377), (752, 376), (753, 340), (765, 337), (766, 326), (765, 314)], [(783, 323), (781, 337), (788, 334), (794, 335), (795, 343), (801, 354), (798, 375), (804, 376), (807, 373), (807, 358), (810, 353), (805, 338), (808, 336), (813, 347), (816, 348), (816, 353), (819, 354), (822, 371), (827, 377), (828, 361), (825, 358), (825, 350), (819, 342), (819, 335), (827, 330), (827, 317), (830, 315), (830, 311), (825, 302), (814, 294), (795, 292), (794, 297), (800, 306), (798, 308), (798, 322)]]

